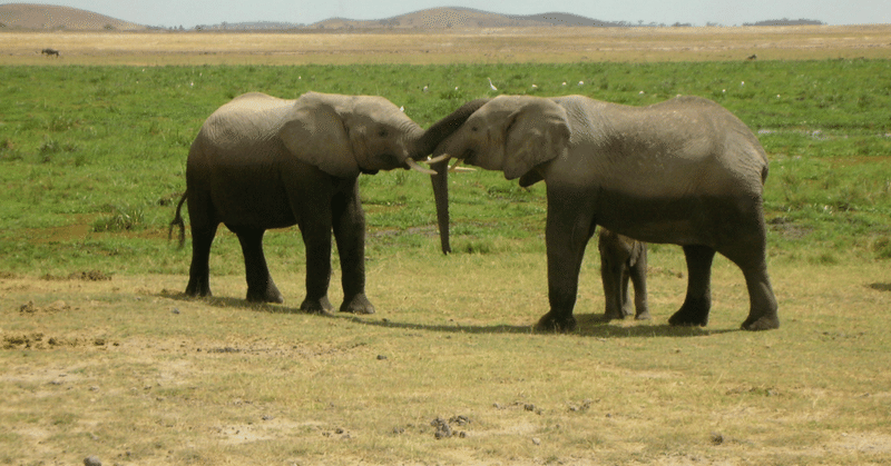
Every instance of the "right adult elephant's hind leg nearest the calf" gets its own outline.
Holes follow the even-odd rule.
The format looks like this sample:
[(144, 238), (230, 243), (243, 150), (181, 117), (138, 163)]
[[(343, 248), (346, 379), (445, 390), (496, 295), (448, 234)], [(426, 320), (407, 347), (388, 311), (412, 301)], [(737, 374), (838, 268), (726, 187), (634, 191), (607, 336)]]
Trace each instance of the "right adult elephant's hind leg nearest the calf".
[(675, 326), (705, 326), (712, 308), (712, 260), (715, 250), (707, 246), (684, 246), (687, 259), (687, 297), (669, 319)]

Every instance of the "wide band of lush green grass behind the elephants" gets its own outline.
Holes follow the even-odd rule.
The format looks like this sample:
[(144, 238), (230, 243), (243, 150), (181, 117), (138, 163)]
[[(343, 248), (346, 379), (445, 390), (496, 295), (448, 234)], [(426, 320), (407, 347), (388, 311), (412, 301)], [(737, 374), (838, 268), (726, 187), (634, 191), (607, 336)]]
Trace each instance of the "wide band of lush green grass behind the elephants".
[[(119, 257), (145, 254), (157, 259), (149, 271), (182, 274), (187, 258), (161, 231), (173, 215), (170, 200), (185, 188), (188, 146), (204, 118), (243, 92), (382, 95), (425, 127), (467, 100), (495, 95), (489, 77), (499, 93), (584, 93), (628, 105), (678, 93), (712, 98), (758, 132), (771, 156), (765, 197), (773, 254), (821, 257), (816, 244), (826, 254), (843, 248), (864, 259), (888, 256), (889, 61), (3, 67), (2, 268), (61, 272), (98, 260), (116, 272), (141, 272), (144, 265), (134, 268), (136, 262)], [(423, 86), (430, 90), (423, 92)], [(540, 247), (541, 187), (523, 190), (492, 172), (452, 179), (458, 250)], [(434, 225), (424, 177), (396, 171), (363, 177), (361, 184), (370, 229), (385, 232), (372, 236), (372, 250), (427, 247), (429, 241), (407, 234), (422, 228), (429, 236)], [(91, 231), (35, 238), (37, 230), (77, 224)], [(267, 240), (301, 255), (294, 241), (294, 234)], [(98, 250), (66, 256), (82, 248)], [(224, 266), (217, 272), (238, 271)]]

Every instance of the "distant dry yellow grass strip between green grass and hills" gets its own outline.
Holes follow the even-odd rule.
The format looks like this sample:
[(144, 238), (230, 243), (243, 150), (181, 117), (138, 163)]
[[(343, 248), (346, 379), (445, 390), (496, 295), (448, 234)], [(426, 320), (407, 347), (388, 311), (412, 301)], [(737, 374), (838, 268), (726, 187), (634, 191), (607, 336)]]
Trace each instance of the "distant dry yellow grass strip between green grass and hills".
[[(449, 32), (6, 32), (0, 65), (306, 65), (891, 58), (891, 26)], [(59, 49), (59, 60), (40, 56)]]

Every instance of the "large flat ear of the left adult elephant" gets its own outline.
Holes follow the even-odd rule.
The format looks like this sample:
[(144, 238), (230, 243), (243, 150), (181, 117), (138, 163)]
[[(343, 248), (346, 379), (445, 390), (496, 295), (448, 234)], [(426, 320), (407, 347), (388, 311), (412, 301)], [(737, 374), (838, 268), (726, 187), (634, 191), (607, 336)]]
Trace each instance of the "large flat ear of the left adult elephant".
[(285, 118), (278, 138), (298, 160), (314, 165), (331, 176), (359, 176), (359, 163), (346, 127), (329, 105), (302, 106), (297, 102)]

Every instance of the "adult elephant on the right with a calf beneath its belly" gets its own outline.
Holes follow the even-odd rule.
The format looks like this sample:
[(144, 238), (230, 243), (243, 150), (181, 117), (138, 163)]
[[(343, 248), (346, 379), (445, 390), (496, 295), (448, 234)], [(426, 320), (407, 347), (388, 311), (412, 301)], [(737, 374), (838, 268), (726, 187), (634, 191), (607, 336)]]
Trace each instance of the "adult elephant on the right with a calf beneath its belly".
[[(750, 311), (742, 327), (780, 326), (765, 260), (767, 158), (752, 131), (717, 103), (678, 97), (628, 107), (582, 96), (500, 96), (442, 141), (438, 155), (501, 170), (523, 187), (545, 180), (550, 311), (539, 328), (575, 328), (581, 259), (597, 225), (683, 246), (689, 281), (670, 325), (708, 323), (717, 251), (745, 277)], [(444, 163), (433, 179), (438, 197), (446, 192)], [(440, 229), (448, 230), (447, 215)]]

